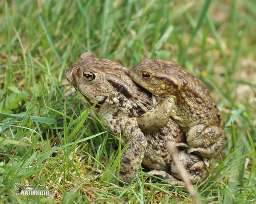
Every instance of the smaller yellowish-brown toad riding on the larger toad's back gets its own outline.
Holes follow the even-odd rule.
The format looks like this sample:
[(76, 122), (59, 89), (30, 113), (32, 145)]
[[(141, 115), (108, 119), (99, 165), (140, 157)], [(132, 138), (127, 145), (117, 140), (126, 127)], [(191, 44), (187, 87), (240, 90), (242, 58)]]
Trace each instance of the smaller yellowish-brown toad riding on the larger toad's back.
[(203, 82), (172, 60), (148, 57), (141, 59), (129, 75), (161, 101), (138, 119), (144, 132), (164, 127), (171, 116), (186, 133), (189, 153), (197, 152), (208, 159), (218, 154), (224, 142), (222, 116)]

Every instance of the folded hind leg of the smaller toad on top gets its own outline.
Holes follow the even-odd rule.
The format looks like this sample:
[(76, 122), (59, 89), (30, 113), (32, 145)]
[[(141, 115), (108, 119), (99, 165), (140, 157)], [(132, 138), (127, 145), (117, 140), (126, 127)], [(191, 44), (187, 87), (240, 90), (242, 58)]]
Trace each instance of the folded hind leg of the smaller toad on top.
[(199, 153), (200, 156), (212, 159), (221, 150), (224, 143), (224, 132), (215, 125), (195, 125), (186, 132), (186, 141), (191, 148), (188, 153)]

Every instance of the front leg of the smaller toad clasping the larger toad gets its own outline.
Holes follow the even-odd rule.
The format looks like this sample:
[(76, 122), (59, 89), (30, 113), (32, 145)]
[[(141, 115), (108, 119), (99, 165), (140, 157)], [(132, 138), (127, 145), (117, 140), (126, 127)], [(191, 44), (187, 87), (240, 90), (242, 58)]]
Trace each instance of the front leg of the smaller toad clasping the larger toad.
[(166, 127), (173, 107), (174, 99), (172, 97), (166, 97), (165, 99), (158, 97), (157, 105), (137, 118), (138, 125), (143, 133), (154, 133), (160, 128)]

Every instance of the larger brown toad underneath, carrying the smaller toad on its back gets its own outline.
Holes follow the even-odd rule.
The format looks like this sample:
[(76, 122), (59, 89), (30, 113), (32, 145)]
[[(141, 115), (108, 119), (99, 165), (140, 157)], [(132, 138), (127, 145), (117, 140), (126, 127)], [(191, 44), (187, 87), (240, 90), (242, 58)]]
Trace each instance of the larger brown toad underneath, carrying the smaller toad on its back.
[[(180, 179), (175, 168), (171, 168), (172, 159), (166, 143), (185, 142), (183, 132), (172, 119), (157, 132), (144, 134), (140, 130), (137, 117), (152, 109), (153, 99), (151, 93), (128, 77), (128, 71), (117, 62), (98, 59), (85, 52), (81, 54), (80, 62), (66, 71), (66, 77), (90, 104), (97, 102), (97, 112), (110, 130), (116, 136), (122, 134), (124, 142), (129, 142), (120, 161), (120, 180), (131, 182), (139, 170), (140, 161), (151, 169), (169, 170)], [(193, 183), (207, 177), (200, 157), (180, 151), (180, 160)], [(172, 176), (169, 178), (172, 184), (180, 183)]]

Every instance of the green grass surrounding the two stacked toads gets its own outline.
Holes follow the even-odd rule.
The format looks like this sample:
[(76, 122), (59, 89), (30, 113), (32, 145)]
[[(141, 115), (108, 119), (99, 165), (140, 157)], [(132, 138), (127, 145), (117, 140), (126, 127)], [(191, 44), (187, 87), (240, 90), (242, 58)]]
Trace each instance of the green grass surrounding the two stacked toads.
[[(255, 15), (251, 0), (1, 1), (0, 203), (192, 203), (185, 188), (141, 173), (114, 184), (121, 143), (58, 88), (84, 51), (130, 68), (168, 58), (195, 73), (226, 136), (210, 178), (195, 185), (201, 203), (256, 203)], [(15, 195), (15, 183), (53, 195)]]

